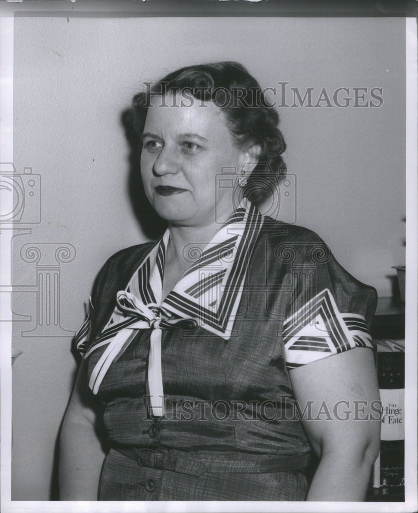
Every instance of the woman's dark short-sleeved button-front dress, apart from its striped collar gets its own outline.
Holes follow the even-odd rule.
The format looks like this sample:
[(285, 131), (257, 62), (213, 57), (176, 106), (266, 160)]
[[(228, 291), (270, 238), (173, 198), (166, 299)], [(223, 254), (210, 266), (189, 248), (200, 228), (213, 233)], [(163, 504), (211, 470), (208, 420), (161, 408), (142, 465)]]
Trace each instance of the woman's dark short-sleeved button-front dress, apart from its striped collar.
[[(153, 327), (133, 330), (112, 357), (96, 390), (111, 447), (99, 500), (305, 499), (310, 446), (295, 415), (289, 369), (371, 347), (366, 325), (376, 293), (341, 268), (312, 231), (263, 218), (254, 232), (243, 250), (244, 276), (236, 278), (242, 287), (222, 297), (236, 302), (227, 335), (204, 323), (161, 329), (163, 416), (149, 403)], [(92, 350), (94, 341), (109, 330), (118, 291), (133, 275), (150, 280), (136, 271), (153, 248), (116, 253), (98, 276), (94, 313), (79, 333), (90, 382), (110, 346), (99, 342)], [(231, 254), (237, 260), (237, 253), (222, 258)]]

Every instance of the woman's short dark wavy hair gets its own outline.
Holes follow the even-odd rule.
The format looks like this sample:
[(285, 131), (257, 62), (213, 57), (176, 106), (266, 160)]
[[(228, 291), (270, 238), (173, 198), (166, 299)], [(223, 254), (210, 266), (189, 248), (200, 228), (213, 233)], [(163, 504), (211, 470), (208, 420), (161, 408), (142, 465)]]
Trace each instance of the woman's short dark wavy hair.
[(151, 97), (170, 91), (187, 93), (221, 108), (226, 126), (241, 150), (255, 145), (261, 148), (257, 165), (244, 187), (244, 195), (252, 203), (259, 205), (269, 198), (284, 180), (286, 165), (281, 154), (286, 143), (278, 129), (279, 115), (244, 66), (230, 61), (187, 66), (146, 86), (146, 91), (136, 94), (132, 101), (134, 125), (140, 136)]

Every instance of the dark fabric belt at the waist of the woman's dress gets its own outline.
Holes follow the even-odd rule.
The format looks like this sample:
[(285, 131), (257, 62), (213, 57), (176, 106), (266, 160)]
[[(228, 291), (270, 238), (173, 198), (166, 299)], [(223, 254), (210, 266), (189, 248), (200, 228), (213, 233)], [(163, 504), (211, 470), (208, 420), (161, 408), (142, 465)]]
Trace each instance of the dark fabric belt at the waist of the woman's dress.
[(222, 455), (221, 459), (205, 458), (202, 456), (184, 456), (184, 452), (167, 449), (132, 449), (113, 447), (123, 456), (130, 458), (143, 467), (172, 470), (201, 476), (204, 472), (240, 472), (240, 473), (267, 473), (284, 472), (288, 470), (301, 470), (309, 464), (309, 453), (303, 455), (290, 455), (281, 458), (261, 460), (254, 457), (238, 459), (236, 456)]

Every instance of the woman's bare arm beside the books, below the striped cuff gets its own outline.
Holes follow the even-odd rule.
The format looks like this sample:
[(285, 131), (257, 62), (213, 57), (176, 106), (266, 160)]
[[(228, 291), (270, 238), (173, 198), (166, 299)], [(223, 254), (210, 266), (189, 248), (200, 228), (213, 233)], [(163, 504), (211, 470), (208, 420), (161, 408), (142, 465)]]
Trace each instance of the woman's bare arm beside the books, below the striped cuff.
[[(318, 457), (308, 501), (363, 501), (380, 447), (373, 353), (354, 348), (290, 371), (302, 425)], [(311, 412), (309, 412), (311, 408)]]

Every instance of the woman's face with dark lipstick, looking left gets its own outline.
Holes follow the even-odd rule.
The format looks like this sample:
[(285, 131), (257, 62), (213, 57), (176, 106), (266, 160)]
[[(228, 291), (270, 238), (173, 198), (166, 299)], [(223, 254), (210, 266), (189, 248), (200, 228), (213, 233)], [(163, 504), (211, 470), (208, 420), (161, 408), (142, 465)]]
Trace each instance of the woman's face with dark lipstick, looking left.
[(148, 108), (141, 153), (145, 193), (170, 224), (223, 222), (234, 210), (232, 187), (217, 187), (216, 175), (222, 168), (239, 173), (249, 155), (234, 145), (212, 102), (182, 107), (181, 100), (167, 96), (164, 105), (157, 96)]

